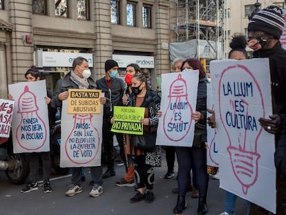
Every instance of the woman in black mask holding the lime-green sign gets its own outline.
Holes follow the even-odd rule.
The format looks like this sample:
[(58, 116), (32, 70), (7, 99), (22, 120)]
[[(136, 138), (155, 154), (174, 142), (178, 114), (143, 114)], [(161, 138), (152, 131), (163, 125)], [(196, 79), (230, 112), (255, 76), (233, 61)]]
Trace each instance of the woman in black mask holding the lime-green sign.
[[(160, 109), (160, 96), (147, 87), (144, 74), (135, 74), (132, 78), (132, 93), (128, 98), (128, 106), (145, 107), (143, 136), (155, 145), (158, 110)], [(135, 164), (135, 179), (137, 182), (137, 193), (131, 198), (130, 203), (137, 203), (145, 198), (146, 203), (152, 203), (155, 196), (152, 192), (154, 184), (154, 166), (161, 165), (160, 147), (153, 151), (142, 151), (134, 147), (135, 135), (126, 134), (126, 153), (132, 155)], [(146, 187), (146, 191), (144, 191)]]

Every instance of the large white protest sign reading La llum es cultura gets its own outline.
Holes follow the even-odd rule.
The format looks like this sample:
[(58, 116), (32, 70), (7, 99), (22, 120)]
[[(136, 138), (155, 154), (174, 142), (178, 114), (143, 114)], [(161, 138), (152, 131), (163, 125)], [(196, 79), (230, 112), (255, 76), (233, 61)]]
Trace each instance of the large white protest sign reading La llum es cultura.
[(210, 66), (220, 187), (275, 213), (274, 135), (258, 122), (272, 113), (269, 59), (213, 61)]

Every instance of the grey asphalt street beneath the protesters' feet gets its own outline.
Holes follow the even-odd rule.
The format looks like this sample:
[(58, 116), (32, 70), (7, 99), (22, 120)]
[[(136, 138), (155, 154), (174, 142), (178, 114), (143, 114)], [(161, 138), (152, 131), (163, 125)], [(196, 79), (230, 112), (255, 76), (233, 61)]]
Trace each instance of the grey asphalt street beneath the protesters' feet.
[[(164, 152), (164, 151), (163, 151)], [(106, 167), (104, 167), (105, 170)], [(178, 165), (175, 164), (175, 171)], [(70, 176), (60, 176), (53, 174), (51, 186), (53, 192), (44, 194), (44, 187), (39, 187), (37, 191), (21, 194), (20, 190), (24, 185), (12, 185), (3, 172), (0, 172), (0, 211), (1, 214), (18, 215), (44, 215), (44, 214), (173, 214), (173, 207), (176, 204), (177, 195), (171, 190), (177, 187), (175, 176), (171, 179), (164, 179), (166, 173), (166, 160), (162, 154), (162, 167), (155, 168), (155, 185), (153, 192), (155, 200), (151, 204), (140, 203), (131, 204), (129, 199), (133, 197), (135, 191), (133, 187), (117, 187), (115, 181), (124, 176), (124, 166), (117, 162), (116, 176), (104, 179), (104, 193), (91, 198), (88, 193), (91, 186), (90, 175), (86, 168), (86, 181), (82, 184), (83, 191), (73, 197), (66, 197), (64, 194), (68, 190)], [(219, 180), (209, 178), (209, 191), (207, 205), (210, 215), (218, 215), (224, 211), (225, 191), (220, 189)], [(238, 198), (236, 204), (236, 215), (244, 215), (246, 212), (245, 200)], [(187, 209), (183, 214), (197, 214), (198, 199), (191, 198), (191, 193), (187, 194)]]

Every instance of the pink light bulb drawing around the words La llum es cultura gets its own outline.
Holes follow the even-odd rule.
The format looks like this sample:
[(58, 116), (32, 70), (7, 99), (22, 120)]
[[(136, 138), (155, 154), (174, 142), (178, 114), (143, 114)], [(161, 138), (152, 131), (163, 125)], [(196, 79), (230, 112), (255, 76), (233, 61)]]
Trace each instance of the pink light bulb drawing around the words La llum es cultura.
[[(231, 81), (236, 73), (240, 81)], [(263, 130), (258, 118), (265, 117), (262, 91), (254, 75), (242, 65), (225, 68), (218, 86), (220, 120), (229, 141), (231, 167), (247, 194), (258, 178), (257, 144)]]

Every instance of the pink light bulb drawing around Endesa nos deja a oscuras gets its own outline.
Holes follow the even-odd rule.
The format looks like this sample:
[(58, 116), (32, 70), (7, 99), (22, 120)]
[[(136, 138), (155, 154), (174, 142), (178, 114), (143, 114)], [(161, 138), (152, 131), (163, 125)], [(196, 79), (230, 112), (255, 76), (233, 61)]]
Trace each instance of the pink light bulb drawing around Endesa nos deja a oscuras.
[(36, 95), (25, 86), (18, 100), (17, 113), (21, 114), (21, 120), (16, 129), (16, 140), (23, 149), (40, 149), (46, 142), (47, 127), (38, 110)]

